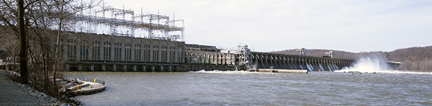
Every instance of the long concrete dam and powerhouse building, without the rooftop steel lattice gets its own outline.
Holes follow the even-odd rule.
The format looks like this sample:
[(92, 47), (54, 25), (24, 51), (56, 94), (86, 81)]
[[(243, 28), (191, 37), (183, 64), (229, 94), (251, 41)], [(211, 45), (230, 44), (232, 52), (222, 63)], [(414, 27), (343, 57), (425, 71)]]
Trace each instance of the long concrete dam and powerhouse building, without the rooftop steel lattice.
[(62, 36), (59, 47), (60, 55), (67, 58), (64, 61), (67, 71), (257, 71), (271, 68), (335, 71), (355, 61), (251, 52), (247, 45), (239, 45), (238, 49), (217, 49), (171, 40), (93, 33)]

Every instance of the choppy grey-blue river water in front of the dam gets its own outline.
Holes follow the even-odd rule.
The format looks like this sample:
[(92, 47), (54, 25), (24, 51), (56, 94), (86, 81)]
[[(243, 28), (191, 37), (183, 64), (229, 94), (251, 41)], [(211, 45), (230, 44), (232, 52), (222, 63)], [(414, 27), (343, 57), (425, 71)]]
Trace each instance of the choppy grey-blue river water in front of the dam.
[(432, 105), (424, 73), (67, 72), (106, 90), (84, 105)]

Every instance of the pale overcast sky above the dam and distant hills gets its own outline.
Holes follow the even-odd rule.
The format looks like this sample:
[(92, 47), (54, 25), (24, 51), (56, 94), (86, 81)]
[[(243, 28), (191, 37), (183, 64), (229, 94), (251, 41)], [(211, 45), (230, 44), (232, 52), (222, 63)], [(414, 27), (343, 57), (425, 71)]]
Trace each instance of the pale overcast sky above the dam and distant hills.
[[(385, 51), (432, 45), (430, 0), (105, 0), (185, 20), (188, 44), (258, 52)], [(178, 23), (177, 23), (178, 24)]]

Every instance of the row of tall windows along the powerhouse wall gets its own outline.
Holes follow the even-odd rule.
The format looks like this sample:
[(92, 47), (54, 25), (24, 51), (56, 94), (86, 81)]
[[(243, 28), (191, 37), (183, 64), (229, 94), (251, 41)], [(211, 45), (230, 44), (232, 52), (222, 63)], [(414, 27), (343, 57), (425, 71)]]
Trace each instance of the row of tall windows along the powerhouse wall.
[[(80, 56), (81, 59), (89, 59), (89, 47), (87, 46), (87, 41), (86, 40), (82, 40), (81, 43), (83, 45), (81, 45), (81, 51), (80, 51)], [(93, 42), (93, 48), (91, 55), (92, 55), (92, 59), (93, 60), (98, 60), (99, 59), (99, 54), (100, 54), (100, 49), (101, 49), (101, 43), (98, 41), (94, 41)], [(62, 48), (62, 45), (60, 45), (60, 48)], [(120, 42), (115, 42), (114, 43), (114, 60), (118, 60), (120, 61), (122, 59), (122, 45)], [(141, 50), (143, 49), (143, 50)], [(76, 44), (74, 42), (74, 40), (68, 40), (67, 42), (67, 58), (68, 59), (75, 59), (75, 52), (76, 52)], [(125, 44), (124, 47), (124, 59), (125, 61), (131, 61), (131, 45), (129, 43)], [(174, 55), (177, 55), (177, 62), (181, 62), (181, 47), (178, 47), (178, 52), (176, 54), (175, 52), (175, 47), (169, 47), (169, 53), (167, 53), (167, 47), (166, 46), (162, 46), (161, 47), (161, 61), (165, 61), (168, 62), (167, 57), (169, 58), (169, 62), (175, 62), (174, 60)], [(136, 44), (135, 45), (135, 56), (134, 56), (134, 61), (140, 61), (141, 57), (143, 58), (144, 61), (150, 61), (150, 46), (149, 45), (144, 45), (144, 47), (141, 47), (141, 45)], [(141, 53), (142, 52), (142, 53)], [(152, 61), (159, 61), (158, 59), (158, 54), (159, 54), (159, 46), (154, 45), (153, 46), (153, 57), (152, 57)], [(110, 56), (111, 56), (111, 43), (110, 42), (103, 42), (103, 60), (110, 60)]]

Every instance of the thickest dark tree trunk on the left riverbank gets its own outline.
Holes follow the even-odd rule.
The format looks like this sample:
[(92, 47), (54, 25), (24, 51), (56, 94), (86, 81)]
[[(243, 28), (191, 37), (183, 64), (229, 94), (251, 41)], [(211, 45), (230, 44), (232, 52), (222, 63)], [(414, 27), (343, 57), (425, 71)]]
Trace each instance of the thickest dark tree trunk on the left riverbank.
[(27, 41), (25, 37), (25, 26), (24, 26), (24, 1), (18, 0), (18, 27), (20, 34), (20, 69), (21, 69), (21, 83), (28, 83), (27, 77)]

